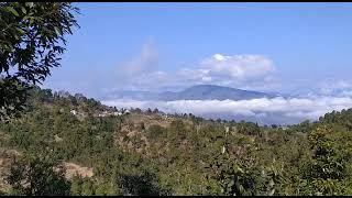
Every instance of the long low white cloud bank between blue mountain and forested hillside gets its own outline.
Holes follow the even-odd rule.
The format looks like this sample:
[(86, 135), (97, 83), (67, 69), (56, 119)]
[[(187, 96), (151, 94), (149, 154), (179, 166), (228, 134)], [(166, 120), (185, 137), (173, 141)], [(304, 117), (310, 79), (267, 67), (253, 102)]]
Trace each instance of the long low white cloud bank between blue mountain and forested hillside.
[(306, 119), (317, 120), (332, 110), (352, 108), (352, 98), (260, 98), (251, 100), (176, 100), (176, 101), (135, 101), (110, 100), (108, 106), (120, 108), (158, 108), (168, 113), (194, 113), (211, 118), (244, 119), (251, 117), (260, 123), (298, 123)]

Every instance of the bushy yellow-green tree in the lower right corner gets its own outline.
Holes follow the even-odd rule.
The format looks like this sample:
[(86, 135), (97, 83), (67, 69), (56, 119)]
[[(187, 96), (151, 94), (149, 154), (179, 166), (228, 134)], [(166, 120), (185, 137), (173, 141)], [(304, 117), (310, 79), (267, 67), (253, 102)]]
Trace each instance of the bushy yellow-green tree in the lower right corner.
[[(343, 133), (332, 133), (328, 125), (318, 127), (310, 132), (308, 140), (312, 156), (304, 168), (304, 179), (307, 179), (310, 194), (341, 194), (343, 180), (348, 177), (350, 154), (346, 147), (341, 147)], [(345, 138), (349, 140), (349, 138)], [(342, 144), (342, 145), (345, 145)]]

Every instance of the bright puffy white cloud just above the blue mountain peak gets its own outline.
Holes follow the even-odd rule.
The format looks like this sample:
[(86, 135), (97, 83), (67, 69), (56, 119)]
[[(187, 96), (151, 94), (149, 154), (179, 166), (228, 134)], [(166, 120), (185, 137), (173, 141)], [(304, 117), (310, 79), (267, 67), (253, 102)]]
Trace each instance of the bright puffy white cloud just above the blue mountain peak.
[(182, 68), (177, 75), (188, 86), (213, 84), (263, 89), (272, 86), (274, 72), (273, 61), (263, 55), (215, 54), (200, 61), (196, 67)]

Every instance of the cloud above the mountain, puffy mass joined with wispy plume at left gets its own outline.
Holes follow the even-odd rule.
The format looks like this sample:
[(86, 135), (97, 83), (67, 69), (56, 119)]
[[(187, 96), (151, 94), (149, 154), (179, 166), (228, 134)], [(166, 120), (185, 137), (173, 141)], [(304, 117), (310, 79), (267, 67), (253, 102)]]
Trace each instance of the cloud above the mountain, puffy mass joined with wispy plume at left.
[(213, 84), (235, 88), (268, 88), (275, 66), (263, 55), (221, 55), (204, 58), (193, 67), (174, 73), (156, 70), (158, 53), (152, 42), (146, 43), (139, 56), (119, 67), (118, 85), (123, 88), (157, 90), (162, 87), (186, 88)]

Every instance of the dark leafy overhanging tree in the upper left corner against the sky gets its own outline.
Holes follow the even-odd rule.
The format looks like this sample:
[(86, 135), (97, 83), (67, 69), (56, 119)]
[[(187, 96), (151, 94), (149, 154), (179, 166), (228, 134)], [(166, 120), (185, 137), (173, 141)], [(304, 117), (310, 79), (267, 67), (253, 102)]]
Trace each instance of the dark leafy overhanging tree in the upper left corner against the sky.
[(65, 35), (78, 26), (69, 2), (0, 3), (0, 119), (25, 108), (28, 90), (59, 66)]

